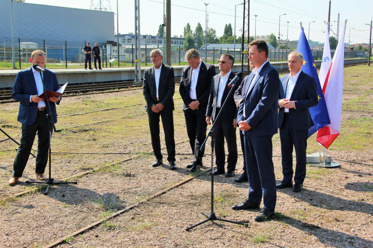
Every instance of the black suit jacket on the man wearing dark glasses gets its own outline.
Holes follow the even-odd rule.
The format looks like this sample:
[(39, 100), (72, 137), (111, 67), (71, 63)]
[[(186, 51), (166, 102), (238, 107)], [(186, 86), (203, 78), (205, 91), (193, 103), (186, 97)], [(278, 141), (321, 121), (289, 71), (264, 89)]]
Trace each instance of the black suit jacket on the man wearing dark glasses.
[[(235, 84), (234, 88), (232, 89), (233, 92), (230, 94), (229, 98), (228, 93), (230, 88), (227, 87), (229, 82), (234, 78), (235, 74), (231, 72), (228, 77), (228, 81), (224, 86), (223, 96), (221, 98), (221, 106), (223, 105), (224, 101), (227, 101), (224, 106), (222, 113), (220, 114), (221, 117), (219, 119), (224, 122), (232, 123), (233, 119), (237, 117), (238, 110), (236, 108), (236, 104), (234, 102), (234, 91), (238, 88), (240, 84)], [(206, 116), (211, 116), (211, 120), (216, 119), (216, 104), (218, 100), (218, 90), (219, 90), (219, 81), (220, 81), (221, 74), (215, 75), (213, 78), (213, 83), (211, 84), (210, 90), (210, 97), (209, 102), (207, 104)]]

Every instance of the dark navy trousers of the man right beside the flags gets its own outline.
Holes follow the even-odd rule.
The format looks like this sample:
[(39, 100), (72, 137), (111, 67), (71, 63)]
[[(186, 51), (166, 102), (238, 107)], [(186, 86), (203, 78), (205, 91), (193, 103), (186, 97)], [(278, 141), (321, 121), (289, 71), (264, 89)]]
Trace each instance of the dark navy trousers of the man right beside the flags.
[(285, 181), (290, 181), (293, 178), (293, 146), (296, 156), (294, 183), (302, 184), (306, 178), (307, 136), (308, 129), (294, 130), (290, 126), (290, 118), (284, 115), (284, 121), (280, 128), (280, 141), (282, 174)]

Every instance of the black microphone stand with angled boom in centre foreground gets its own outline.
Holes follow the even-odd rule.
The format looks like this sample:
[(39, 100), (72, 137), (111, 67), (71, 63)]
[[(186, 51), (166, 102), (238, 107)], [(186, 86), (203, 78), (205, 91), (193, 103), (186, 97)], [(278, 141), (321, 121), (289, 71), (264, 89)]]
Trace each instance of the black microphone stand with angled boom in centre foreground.
[(220, 114), (223, 111), (223, 109), (225, 107), (225, 104), (227, 103), (227, 99), (229, 98), (229, 96), (233, 92), (234, 85), (235, 85), (235, 83), (232, 83), (231, 88), (230, 88), (229, 93), (228, 93), (228, 96), (227, 96), (227, 98), (225, 98), (225, 101), (224, 101), (222, 107), (220, 108), (220, 112), (218, 113), (217, 117), (215, 118), (215, 120), (213, 122), (213, 125), (211, 126), (204, 143), (199, 148), (200, 151), (202, 149), (204, 149), (207, 139), (209, 138), (209, 136), (211, 136), (211, 211), (210, 211), (210, 214), (206, 214), (206, 212), (201, 212), (201, 214), (206, 216), (207, 219), (202, 221), (202, 222), (199, 222), (198, 224), (196, 224), (194, 226), (186, 228), (185, 229), (186, 231), (189, 231), (190, 229), (192, 229), (196, 226), (204, 224), (205, 222), (215, 221), (215, 220), (229, 222), (229, 223), (233, 223), (233, 224), (243, 225), (244, 227), (248, 227), (247, 223), (242, 223), (242, 222), (236, 222), (236, 221), (230, 221), (230, 220), (224, 220), (224, 219), (217, 218), (216, 215), (215, 215), (215, 212), (214, 212), (214, 173), (213, 173), (213, 171), (214, 171), (214, 136), (215, 136), (214, 126), (215, 126), (215, 123), (217, 122), (217, 120), (219, 120)]

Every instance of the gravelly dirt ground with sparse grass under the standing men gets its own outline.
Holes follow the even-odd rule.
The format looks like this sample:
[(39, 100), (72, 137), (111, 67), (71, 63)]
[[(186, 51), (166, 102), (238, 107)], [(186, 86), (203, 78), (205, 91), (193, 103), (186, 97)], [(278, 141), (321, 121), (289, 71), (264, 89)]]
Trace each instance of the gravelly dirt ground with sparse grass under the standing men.
[[(370, 70), (367, 77), (371, 82), (371, 69), (365, 66), (362, 70)], [(52, 177), (58, 181), (85, 171), (90, 173), (72, 179), (78, 182), (76, 185), (53, 185), (49, 194), (44, 195), (44, 186), (32, 187), (35, 184), (25, 183), (35, 180), (35, 159), (30, 157), (21, 182), (10, 187), (7, 181), (12, 174), (17, 145), (11, 140), (0, 143), (0, 226), (3, 230), (0, 247), (48, 247), (56, 240), (133, 205), (132, 209), (91, 230), (64, 239), (57, 247), (373, 247), (373, 87), (367, 83), (349, 91), (357, 80), (351, 76), (354, 74), (356, 69), (345, 69), (345, 78), (353, 80), (347, 81), (344, 92), (343, 132), (338, 137), (340, 145), (336, 144), (329, 151), (332, 160), (341, 166), (308, 165), (301, 192), (277, 191), (275, 218), (257, 223), (254, 217), (259, 210), (231, 209), (248, 194), (248, 183), (233, 181), (242, 173), (242, 155), (239, 155), (233, 179), (223, 175), (214, 177), (216, 216), (247, 223), (248, 227), (208, 221), (190, 231), (185, 230), (206, 219), (201, 211), (207, 214), (211, 211), (211, 176), (202, 172), (185, 184), (172, 187), (192, 176), (185, 168), (192, 156), (178, 92), (174, 96), (178, 166), (175, 171), (169, 170), (168, 163), (156, 168), (151, 166), (154, 157), (149, 153), (151, 141), (140, 89), (65, 97), (57, 107), (59, 121), (56, 128), (65, 129), (53, 134)], [(351, 99), (366, 108), (355, 111), (348, 105)], [(134, 106), (122, 108), (130, 104)], [(92, 110), (92, 106), (97, 106), (97, 110), (117, 109), (67, 116)], [(0, 109), (0, 124), (16, 123), (18, 103), (1, 104)], [(131, 117), (118, 119), (125, 116)], [(112, 121), (71, 128), (109, 119)], [(361, 121), (350, 124), (356, 120)], [(20, 125), (0, 127), (19, 141)], [(367, 131), (359, 131), (359, 127), (366, 127)], [(348, 136), (345, 131), (348, 128), (362, 132), (361, 137)], [(4, 138), (0, 133), (0, 140)], [(315, 139), (313, 135), (308, 140), (309, 153), (318, 151)], [(161, 142), (164, 146), (163, 138)], [(365, 145), (358, 146), (360, 142)], [(280, 182), (278, 134), (274, 136), (273, 144), (276, 179)], [(166, 153), (165, 149), (162, 152)], [(204, 170), (211, 167), (210, 154), (208, 142)], [(121, 162), (129, 157), (133, 158)], [(46, 175), (48, 172), (47, 168)], [(138, 204), (169, 187), (171, 189), (164, 194)], [(25, 190), (29, 193), (13, 197)]]

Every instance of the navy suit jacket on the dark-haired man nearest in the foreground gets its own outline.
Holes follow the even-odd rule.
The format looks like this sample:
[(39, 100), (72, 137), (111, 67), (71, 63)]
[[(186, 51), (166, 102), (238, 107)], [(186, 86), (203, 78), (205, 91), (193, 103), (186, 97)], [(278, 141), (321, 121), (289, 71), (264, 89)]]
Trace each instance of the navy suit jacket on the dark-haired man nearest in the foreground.
[[(244, 78), (242, 84), (250, 85), (255, 74)], [(278, 129), (278, 94), (280, 78), (277, 69), (266, 62), (259, 72), (259, 76), (243, 94), (237, 121), (246, 121), (251, 129), (245, 131), (253, 136), (274, 135)], [(245, 113), (244, 113), (245, 106)], [(246, 119), (244, 118), (246, 117)]]

